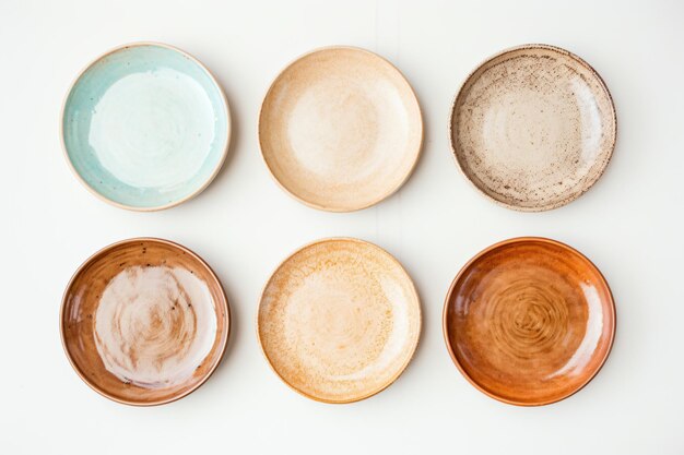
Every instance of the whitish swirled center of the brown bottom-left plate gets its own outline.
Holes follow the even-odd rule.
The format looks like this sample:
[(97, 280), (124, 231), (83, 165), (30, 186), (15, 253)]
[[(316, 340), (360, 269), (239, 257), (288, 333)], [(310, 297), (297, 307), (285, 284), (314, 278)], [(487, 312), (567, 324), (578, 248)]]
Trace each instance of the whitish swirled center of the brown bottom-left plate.
[(211, 351), (212, 307), (207, 284), (185, 268), (123, 270), (105, 288), (95, 315), (105, 368), (141, 387), (186, 381)]

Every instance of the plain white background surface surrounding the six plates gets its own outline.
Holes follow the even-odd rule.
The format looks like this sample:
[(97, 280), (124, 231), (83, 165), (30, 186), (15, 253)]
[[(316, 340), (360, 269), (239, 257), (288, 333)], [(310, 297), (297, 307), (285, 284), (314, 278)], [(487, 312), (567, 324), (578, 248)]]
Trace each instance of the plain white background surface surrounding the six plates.
[[(684, 453), (684, 3), (676, 1), (139, 1), (0, 0), (0, 452), (133, 453)], [(63, 96), (105, 50), (158, 40), (204, 62), (227, 94), (233, 142), (217, 179), (158, 213), (115, 208), (71, 175), (59, 142)], [(576, 52), (610, 87), (618, 142), (586, 195), (546, 213), (496, 206), (460, 175), (447, 119), (467, 74), (524, 43)], [(258, 110), (284, 64), (312, 48), (377, 51), (406, 75), (426, 136), (418, 166), (379, 205), (351, 214), (308, 208), (262, 164)], [(519, 408), (473, 388), (441, 335), (447, 288), (488, 244), (546, 236), (601, 268), (617, 307), (608, 363), (577, 395)], [(234, 316), (216, 373), (154, 408), (91, 391), (62, 351), (58, 319), (71, 274), (129, 237), (178, 241), (221, 277)], [(271, 372), (255, 334), (261, 287), (311, 240), (353, 236), (394, 254), (422, 297), (413, 362), (385, 392), (323, 405)], [(581, 452), (580, 452), (581, 451)]]

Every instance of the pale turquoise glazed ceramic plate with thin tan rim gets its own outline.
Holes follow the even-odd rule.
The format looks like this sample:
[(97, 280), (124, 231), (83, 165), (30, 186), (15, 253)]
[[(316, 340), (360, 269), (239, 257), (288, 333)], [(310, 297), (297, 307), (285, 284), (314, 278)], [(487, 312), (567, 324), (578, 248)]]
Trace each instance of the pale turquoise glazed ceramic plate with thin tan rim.
[(61, 136), (74, 173), (123, 208), (167, 208), (199, 194), (225, 159), (228, 104), (199, 61), (167, 45), (108, 51), (73, 83)]

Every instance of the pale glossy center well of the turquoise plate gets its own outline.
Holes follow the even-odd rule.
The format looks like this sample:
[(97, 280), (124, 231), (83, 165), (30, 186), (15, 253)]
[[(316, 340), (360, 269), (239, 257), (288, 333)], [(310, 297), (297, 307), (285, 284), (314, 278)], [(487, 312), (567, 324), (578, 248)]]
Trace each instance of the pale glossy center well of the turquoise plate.
[(139, 188), (192, 179), (214, 141), (214, 110), (192, 77), (163, 68), (115, 82), (94, 106), (89, 141), (102, 165)]

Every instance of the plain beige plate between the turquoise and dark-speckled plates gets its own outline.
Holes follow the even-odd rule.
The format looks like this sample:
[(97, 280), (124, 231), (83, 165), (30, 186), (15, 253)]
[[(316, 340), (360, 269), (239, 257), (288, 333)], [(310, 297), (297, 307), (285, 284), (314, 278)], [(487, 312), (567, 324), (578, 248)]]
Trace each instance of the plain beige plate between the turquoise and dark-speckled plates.
[(266, 95), (259, 143), (279, 184), (330, 212), (374, 205), (409, 178), (423, 120), (413, 89), (390, 62), (357, 48), (307, 53)]

